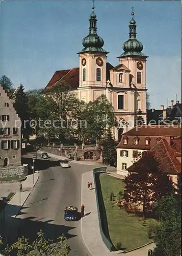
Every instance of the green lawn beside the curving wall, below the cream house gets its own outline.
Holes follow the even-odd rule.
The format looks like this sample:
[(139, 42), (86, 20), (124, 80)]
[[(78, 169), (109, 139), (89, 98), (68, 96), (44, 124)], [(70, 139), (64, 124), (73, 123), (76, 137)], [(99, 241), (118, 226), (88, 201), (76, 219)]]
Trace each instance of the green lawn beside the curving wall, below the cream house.
[[(100, 175), (102, 196), (107, 212), (108, 228), (110, 238), (117, 248), (117, 243), (121, 243), (123, 250), (128, 251), (139, 246), (152, 242), (148, 239), (147, 227), (143, 226), (142, 218), (127, 214), (123, 208), (116, 205), (118, 192), (124, 191), (124, 183), (121, 179), (109, 175)], [(110, 201), (110, 194), (113, 191), (115, 201)], [(146, 224), (149, 223), (146, 219)]]

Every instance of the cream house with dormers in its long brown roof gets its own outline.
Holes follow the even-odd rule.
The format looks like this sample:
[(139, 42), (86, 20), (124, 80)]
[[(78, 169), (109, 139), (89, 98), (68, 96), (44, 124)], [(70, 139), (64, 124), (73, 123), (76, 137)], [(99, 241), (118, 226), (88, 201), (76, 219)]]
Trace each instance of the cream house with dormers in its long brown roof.
[(117, 174), (126, 176), (128, 167), (139, 160), (138, 153), (151, 150), (162, 139), (181, 136), (181, 126), (141, 125), (122, 135), (117, 145)]

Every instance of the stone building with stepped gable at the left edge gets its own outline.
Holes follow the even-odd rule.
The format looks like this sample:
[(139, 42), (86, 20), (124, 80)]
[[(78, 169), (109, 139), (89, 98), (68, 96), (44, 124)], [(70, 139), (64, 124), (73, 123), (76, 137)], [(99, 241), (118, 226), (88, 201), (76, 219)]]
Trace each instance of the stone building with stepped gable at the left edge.
[[(16, 127), (17, 126), (17, 127)], [(0, 168), (21, 165), (21, 128), (11, 99), (0, 86)]]

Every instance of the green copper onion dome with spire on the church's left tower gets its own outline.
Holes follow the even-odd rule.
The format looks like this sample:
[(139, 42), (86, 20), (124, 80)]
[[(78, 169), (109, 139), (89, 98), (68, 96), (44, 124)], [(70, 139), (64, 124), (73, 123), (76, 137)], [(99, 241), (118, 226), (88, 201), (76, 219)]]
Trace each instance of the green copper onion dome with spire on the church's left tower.
[[(94, 9), (94, 6), (92, 6), (92, 9)], [(84, 46), (84, 49), (82, 49), (81, 52), (94, 51), (94, 52), (108, 53), (107, 51), (102, 49), (104, 45), (104, 41), (100, 36), (97, 35), (97, 19), (94, 11), (92, 11), (90, 15), (89, 22), (90, 22), (89, 34), (86, 37), (84, 37), (84, 39), (82, 40), (82, 45)]]

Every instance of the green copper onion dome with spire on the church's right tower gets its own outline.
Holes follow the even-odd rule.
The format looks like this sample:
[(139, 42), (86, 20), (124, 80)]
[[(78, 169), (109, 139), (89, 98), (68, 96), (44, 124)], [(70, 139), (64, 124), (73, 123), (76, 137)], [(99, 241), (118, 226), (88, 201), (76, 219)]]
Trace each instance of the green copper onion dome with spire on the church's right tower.
[[(134, 12), (132, 13), (134, 15)], [(132, 18), (129, 22), (129, 39), (124, 42), (123, 44), (123, 53), (119, 56), (125, 57), (125, 56), (143, 56), (147, 57), (145, 54), (142, 53), (143, 45), (142, 43), (137, 40), (136, 38), (136, 21), (134, 18)]]

